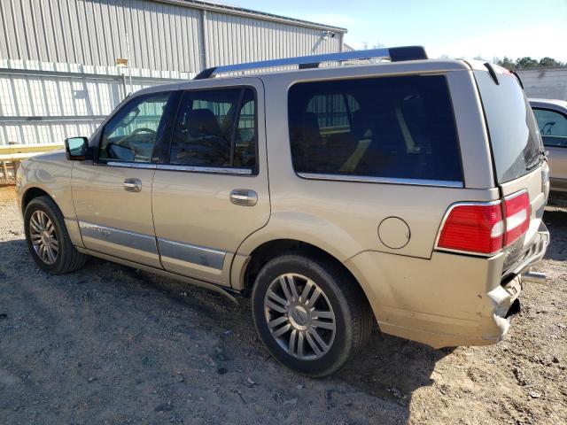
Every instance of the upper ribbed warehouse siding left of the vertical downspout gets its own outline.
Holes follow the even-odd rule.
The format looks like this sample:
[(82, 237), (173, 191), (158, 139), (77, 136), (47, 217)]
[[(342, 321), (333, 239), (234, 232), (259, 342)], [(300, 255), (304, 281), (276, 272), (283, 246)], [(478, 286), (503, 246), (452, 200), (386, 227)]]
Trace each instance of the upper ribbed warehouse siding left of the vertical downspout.
[(1, 0), (0, 58), (198, 72), (201, 12), (146, 0)]

